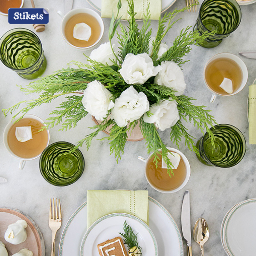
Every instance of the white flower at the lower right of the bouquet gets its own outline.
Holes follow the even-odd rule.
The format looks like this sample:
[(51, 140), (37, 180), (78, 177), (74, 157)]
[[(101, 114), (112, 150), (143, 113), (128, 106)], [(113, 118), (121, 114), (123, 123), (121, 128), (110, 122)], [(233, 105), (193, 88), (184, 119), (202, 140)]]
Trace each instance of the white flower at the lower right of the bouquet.
[(175, 100), (163, 99), (158, 104), (151, 105), (149, 112), (149, 115), (147, 115), (147, 113), (144, 114), (144, 122), (150, 124), (155, 123), (160, 131), (172, 127), (180, 119), (177, 102)]

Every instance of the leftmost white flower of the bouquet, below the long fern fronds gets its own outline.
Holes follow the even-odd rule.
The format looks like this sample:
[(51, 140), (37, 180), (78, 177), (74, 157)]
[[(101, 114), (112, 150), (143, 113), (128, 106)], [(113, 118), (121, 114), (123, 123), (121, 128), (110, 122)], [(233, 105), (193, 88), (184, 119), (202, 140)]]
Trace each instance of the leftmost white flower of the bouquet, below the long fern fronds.
[(114, 107), (111, 96), (111, 92), (102, 83), (95, 80), (87, 84), (82, 104), (88, 113), (102, 121), (108, 115), (108, 110)]

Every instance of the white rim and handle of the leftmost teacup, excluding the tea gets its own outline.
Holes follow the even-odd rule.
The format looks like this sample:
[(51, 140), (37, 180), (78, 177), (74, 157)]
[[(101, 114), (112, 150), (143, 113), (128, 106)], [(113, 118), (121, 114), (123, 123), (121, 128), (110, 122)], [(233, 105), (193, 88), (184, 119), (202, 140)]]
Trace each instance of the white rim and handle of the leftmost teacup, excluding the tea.
[[(35, 119), (35, 120), (41, 122), (41, 123), (44, 125), (44, 121), (43, 121), (41, 118), (39, 118), (38, 116), (31, 115), (31, 114), (26, 114), (26, 115), (24, 115), (23, 118)], [(42, 154), (42, 152), (43, 152), (43, 150), (42, 150), (42, 152), (41, 152), (40, 154), (38, 154), (38, 155), (35, 156), (35, 157), (31, 157), (31, 158), (19, 157), (19, 156), (17, 156), (15, 153), (13, 153), (13, 151), (10, 149), (9, 144), (8, 144), (8, 132), (9, 132), (10, 128), (12, 127), (12, 125), (14, 124), (14, 122), (15, 122), (15, 121), (10, 121), (10, 122), (6, 125), (6, 128), (5, 128), (4, 131), (3, 131), (3, 144), (5, 145), (6, 149), (9, 151), (9, 153), (10, 153), (13, 157), (15, 157), (15, 158), (21, 160), (21, 161), (20, 161), (20, 164), (19, 164), (19, 170), (22, 170), (22, 169), (24, 168), (24, 166), (25, 166), (26, 161), (33, 160), (33, 159), (36, 159), (36, 158), (40, 157), (41, 154)], [(45, 126), (46, 126), (46, 125), (45, 125)], [(47, 129), (47, 134), (48, 134), (48, 141), (47, 141), (47, 146), (48, 146), (48, 145), (49, 145), (49, 141), (50, 141), (49, 129)]]

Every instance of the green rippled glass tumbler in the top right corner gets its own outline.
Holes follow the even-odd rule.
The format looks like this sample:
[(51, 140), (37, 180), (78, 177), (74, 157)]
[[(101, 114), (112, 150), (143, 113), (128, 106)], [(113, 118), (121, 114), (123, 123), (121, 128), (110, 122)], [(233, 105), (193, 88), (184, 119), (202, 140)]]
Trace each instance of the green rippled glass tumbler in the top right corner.
[(221, 41), (237, 29), (241, 21), (241, 9), (236, 0), (205, 0), (199, 11), (194, 31), (200, 35), (216, 31), (203, 43), (205, 48), (218, 46)]

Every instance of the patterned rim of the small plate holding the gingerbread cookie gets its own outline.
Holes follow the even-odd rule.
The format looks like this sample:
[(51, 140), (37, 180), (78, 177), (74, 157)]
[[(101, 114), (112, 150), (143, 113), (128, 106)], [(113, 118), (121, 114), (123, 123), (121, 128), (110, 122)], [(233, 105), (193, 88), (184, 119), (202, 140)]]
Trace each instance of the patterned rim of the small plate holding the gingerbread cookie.
[(109, 215), (106, 215), (106, 216), (103, 216), (102, 218), (99, 218), (97, 221), (95, 221), (90, 227), (89, 229), (86, 231), (84, 237), (83, 237), (83, 240), (82, 240), (82, 243), (81, 243), (81, 249), (80, 249), (80, 256), (84, 256), (84, 243), (87, 239), (87, 236), (89, 235), (89, 233), (91, 232), (91, 230), (97, 225), (99, 224), (101, 221), (104, 221), (105, 219), (108, 219), (108, 218), (112, 218), (112, 217), (127, 217), (127, 218), (131, 218), (131, 219), (134, 219), (135, 221), (138, 221), (140, 224), (143, 225), (143, 227), (145, 227), (146, 230), (148, 230), (148, 233), (150, 234), (153, 242), (154, 242), (154, 249), (155, 249), (155, 256), (158, 256), (158, 248), (157, 248), (157, 241), (156, 241), (156, 238), (152, 232), (152, 230), (150, 229), (150, 227), (145, 224), (144, 221), (142, 221), (140, 218), (137, 218), (135, 217), (134, 215), (131, 215), (131, 214), (127, 214), (127, 213), (113, 213), (113, 214), (109, 214)]

